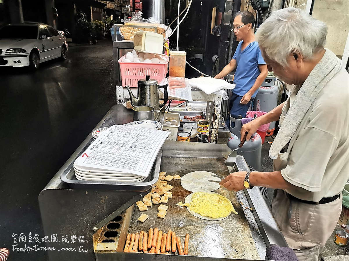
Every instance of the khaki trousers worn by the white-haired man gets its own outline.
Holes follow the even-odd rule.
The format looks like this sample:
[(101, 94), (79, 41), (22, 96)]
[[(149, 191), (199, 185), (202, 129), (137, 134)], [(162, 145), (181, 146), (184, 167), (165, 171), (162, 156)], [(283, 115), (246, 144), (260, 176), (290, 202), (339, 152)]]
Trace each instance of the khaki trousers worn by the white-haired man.
[(317, 261), (336, 227), (342, 195), (330, 203), (312, 205), (290, 200), (282, 189), (276, 189), (270, 208), (299, 261)]

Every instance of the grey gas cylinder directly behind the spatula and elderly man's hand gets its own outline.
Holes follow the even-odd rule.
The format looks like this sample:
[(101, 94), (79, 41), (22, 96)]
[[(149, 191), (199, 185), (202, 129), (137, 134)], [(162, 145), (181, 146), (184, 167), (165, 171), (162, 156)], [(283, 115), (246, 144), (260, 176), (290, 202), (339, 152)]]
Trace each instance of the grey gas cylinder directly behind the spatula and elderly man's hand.
[[(229, 130), (231, 132), (231, 138), (228, 141), (228, 147), (230, 149), (236, 149), (240, 143), (240, 130), (242, 124), (241, 119), (235, 119), (230, 116)], [(261, 154), (262, 154), (262, 138), (259, 134), (255, 133), (249, 141), (246, 141), (242, 148), (237, 150), (237, 155), (241, 155), (245, 158), (246, 163), (257, 169), (261, 170)]]

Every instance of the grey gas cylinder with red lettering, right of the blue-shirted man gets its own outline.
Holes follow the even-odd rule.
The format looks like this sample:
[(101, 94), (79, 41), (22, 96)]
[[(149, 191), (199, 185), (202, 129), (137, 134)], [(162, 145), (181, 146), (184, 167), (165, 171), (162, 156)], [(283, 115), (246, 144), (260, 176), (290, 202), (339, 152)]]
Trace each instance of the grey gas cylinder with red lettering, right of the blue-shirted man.
[[(279, 87), (273, 86), (261, 86), (258, 89), (258, 93), (254, 99), (254, 110), (269, 112), (277, 106), (277, 100), (279, 98)], [(275, 121), (270, 123), (266, 136), (273, 135), (275, 130)]]

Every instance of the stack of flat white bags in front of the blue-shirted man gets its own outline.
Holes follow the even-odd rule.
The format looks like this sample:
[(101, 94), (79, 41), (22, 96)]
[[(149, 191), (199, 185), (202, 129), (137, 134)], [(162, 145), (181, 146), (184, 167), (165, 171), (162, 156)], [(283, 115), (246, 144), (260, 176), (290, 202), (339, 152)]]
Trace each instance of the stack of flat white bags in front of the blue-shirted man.
[(192, 78), (188, 79), (187, 82), (192, 88), (200, 89), (208, 95), (222, 89), (233, 89), (235, 87), (235, 84), (211, 77)]

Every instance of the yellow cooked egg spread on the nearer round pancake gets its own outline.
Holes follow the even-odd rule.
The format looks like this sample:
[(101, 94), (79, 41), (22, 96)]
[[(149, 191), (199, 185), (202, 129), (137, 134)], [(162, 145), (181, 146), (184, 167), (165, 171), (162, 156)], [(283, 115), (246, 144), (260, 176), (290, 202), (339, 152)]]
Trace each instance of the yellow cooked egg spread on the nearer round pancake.
[(209, 216), (212, 218), (225, 217), (228, 216), (230, 212), (237, 214), (228, 198), (207, 192), (195, 192), (189, 207), (191, 211), (201, 216)]

